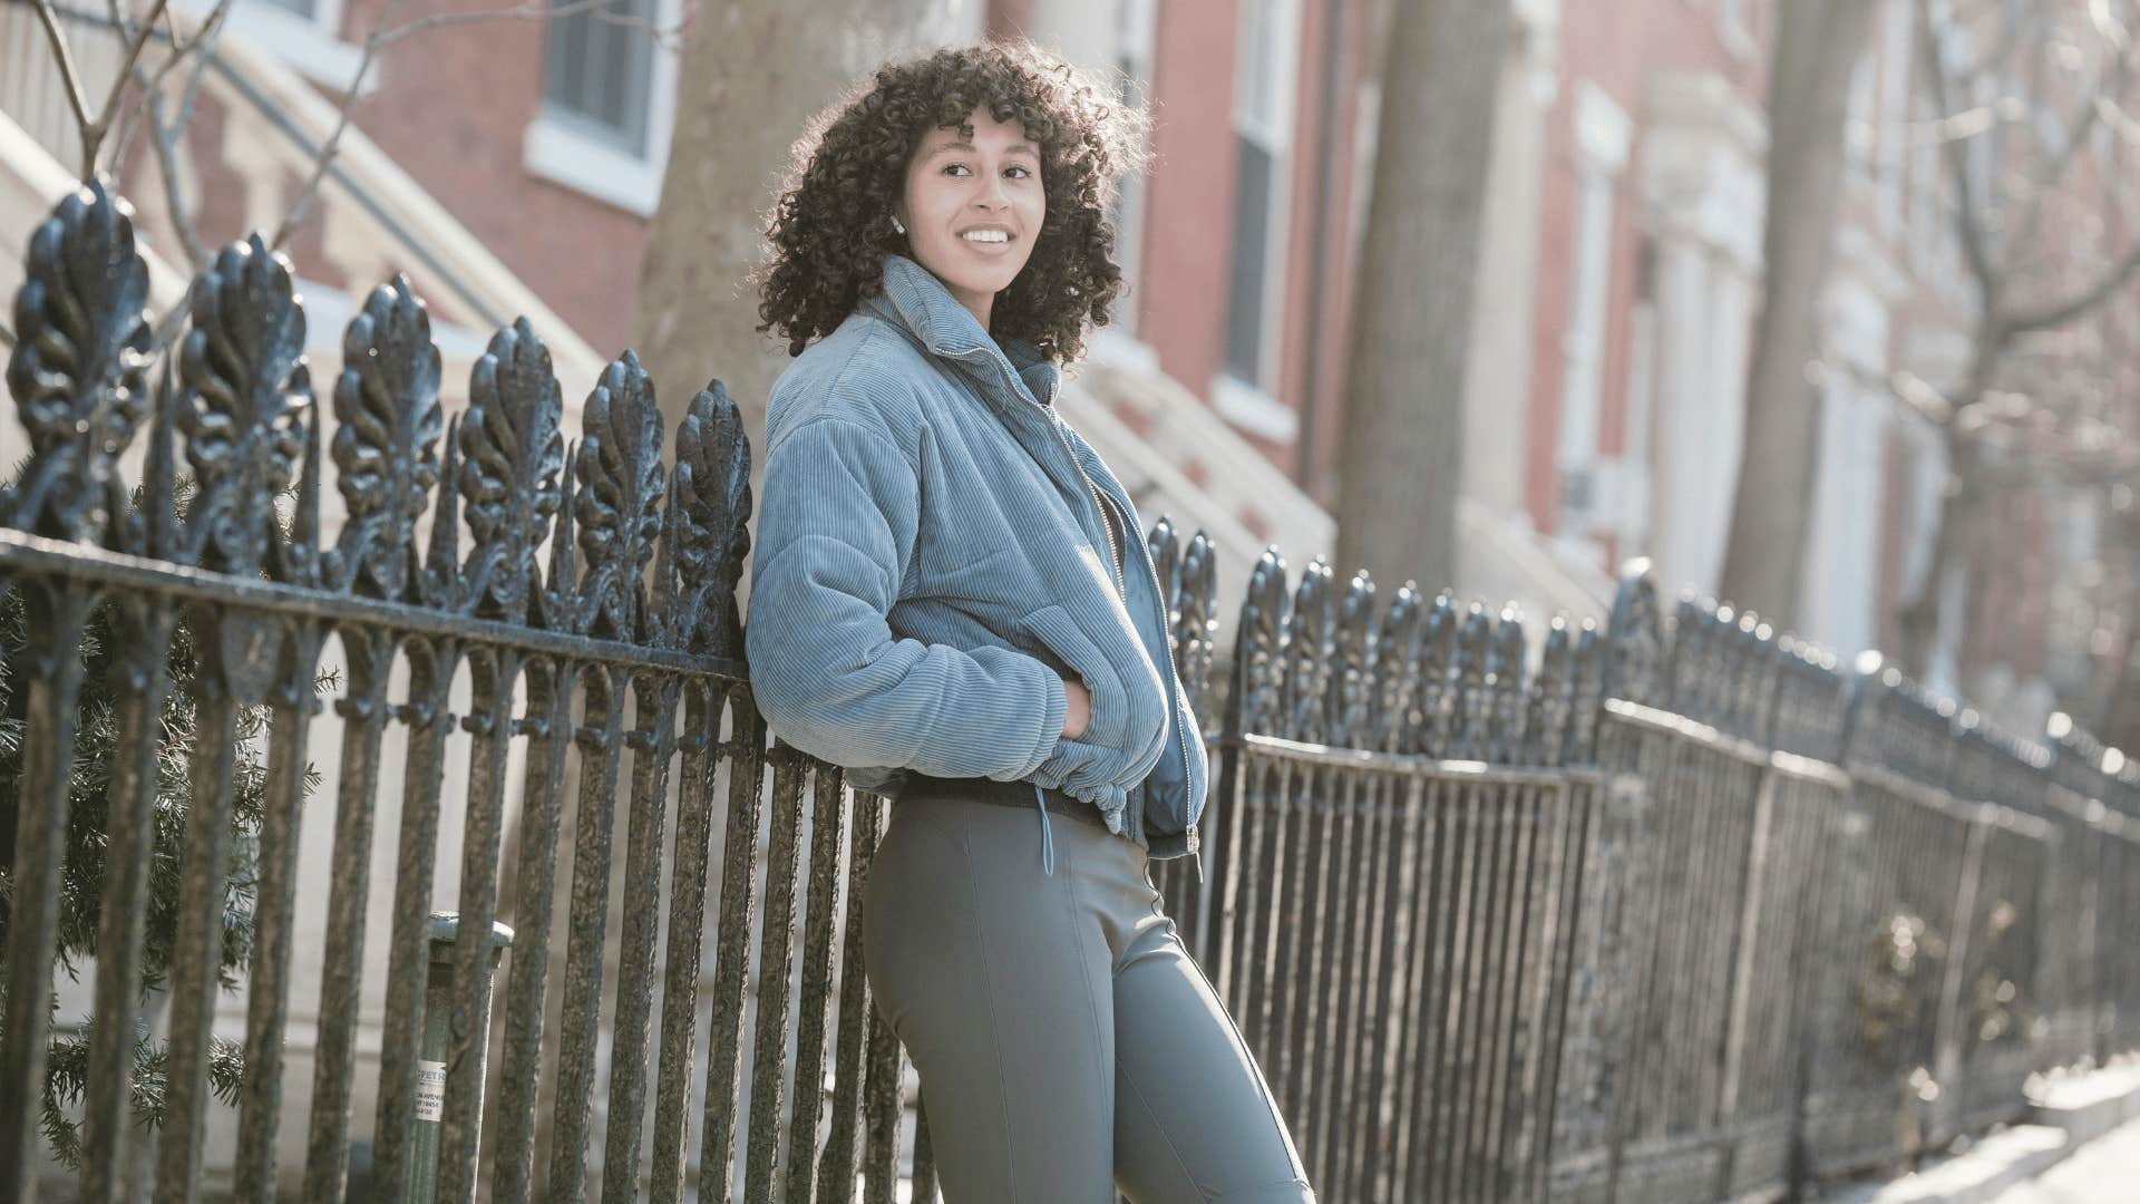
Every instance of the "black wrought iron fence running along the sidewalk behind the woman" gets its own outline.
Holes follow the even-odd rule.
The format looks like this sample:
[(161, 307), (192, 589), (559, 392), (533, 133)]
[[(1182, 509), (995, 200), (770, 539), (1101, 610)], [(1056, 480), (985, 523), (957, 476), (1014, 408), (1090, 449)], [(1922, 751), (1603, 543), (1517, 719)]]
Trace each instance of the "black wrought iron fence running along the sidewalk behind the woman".
[[(47, 1050), (75, 1035), (81, 1097), (51, 1103), (81, 1125), (88, 1200), (126, 1189), (137, 1075), (169, 1103), (163, 1200), (223, 1176), (242, 1200), (360, 1178), (933, 1198), (847, 938), (890, 803), (751, 707), (749, 446), (719, 383), (666, 441), (627, 351), (569, 439), (522, 321), (449, 418), (396, 279), (319, 396), (259, 240), (199, 276), (158, 349), (101, 184), (26, 266), (9, 392), (30, 461), (0, 493), (30, 636), (4, 666), (24, 767), (0, 795), (0, 1191), (36, 1187)], [(1753, 615), (1667, 615), (1639, 566), (1605, 630), (1532, 641), (1515, 613), (1340, 589), (1320, 559), (1288, 583), (1271, 551), (1213, 679), (1216, 551), (1164, 521), (1149, 546), (1218, 763), (1209, 872), (1156, 881), (1325, 1200), (1774, 1195), (2012, 1118), (2031, 1071), (2140, 1043), (2119, 923), (2140, 771), (2072, 724), (2014, 739), (1877, 658), (1843, 671)], [(199, 653), (184, 679), (173, 643)], [(90, 688), (116, 698), (109, 763), (77, 756)], [(188, 748), (156, 722), (173, 692)], [(240, 782), (265, 799), (244, 840)], [(83, 791), (105, 806), (71, 812)], [(109, 821), (83, 833), (88, 814)], [(86, 844), (94, 923), (62, 889)], [(143, 913), (169, 866), (154, 1063), (133, 1035), (163, 1015)], [(225, 949), (233, 876), (250, 945)], [(242, 1009), (218, 1007), (231, 949)], [(54, 1009), (60, 951), (92, 964), (88, 1026)]]

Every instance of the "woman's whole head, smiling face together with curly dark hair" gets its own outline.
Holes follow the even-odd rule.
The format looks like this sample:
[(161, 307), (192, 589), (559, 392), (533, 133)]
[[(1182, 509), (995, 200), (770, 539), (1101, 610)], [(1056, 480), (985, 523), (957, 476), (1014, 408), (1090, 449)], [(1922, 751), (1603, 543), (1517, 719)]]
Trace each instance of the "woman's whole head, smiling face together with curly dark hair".
[[(993, 291), (976, 313), (989, 334), (1074, 362), (1121, 291), (1109, 212), (1143, 167), (1145, 126), (1111, 88), (1025, 43), (882, 66), (796, 144), (766, 227), (773, 255), (753, 274), (760, 330), (800, 356), (882, 294), (897, 253), (946, 287)], [(1002, 227), (1004, 251), (963, 240), (974, 227)], [(974, 311), (980, 298), (959, 300)]]

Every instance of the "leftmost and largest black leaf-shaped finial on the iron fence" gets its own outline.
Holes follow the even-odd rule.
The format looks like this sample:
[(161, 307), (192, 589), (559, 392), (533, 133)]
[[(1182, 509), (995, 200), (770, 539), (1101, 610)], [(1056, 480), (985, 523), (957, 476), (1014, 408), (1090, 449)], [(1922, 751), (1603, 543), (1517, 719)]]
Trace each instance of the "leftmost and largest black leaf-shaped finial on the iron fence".
[(133, 210), (98, 176), (54, 206), (24, 257), (6, 386), (30, 465), (0, 521), (56, 540), (103, 540), (126, 512), (120, 452), (148, 413), (148, 264)]

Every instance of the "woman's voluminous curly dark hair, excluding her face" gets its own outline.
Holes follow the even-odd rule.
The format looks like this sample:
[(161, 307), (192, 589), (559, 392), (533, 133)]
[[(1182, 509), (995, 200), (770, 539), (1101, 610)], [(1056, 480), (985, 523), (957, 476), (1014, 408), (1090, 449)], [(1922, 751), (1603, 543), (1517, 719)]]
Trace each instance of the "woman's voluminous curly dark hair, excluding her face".
[(910, 253), (890, 223), (907, 161), (931, 129), (972, 137), (974, 109), (1025, 126), (1046, 193), (1031, 259), (997, 294), (991, 334), (1059, 364), (1083, 353), (1085, 319), (1106, 326), (1121, 291), (1109, 206), (1117, 180), (1143, 167), (1147, 114), (1023, 39), (888, 62), (811, 122), (766, 225), (770, 259), (753, 272), (760, 332), (777, 330), (800, 356), (884, 289), (884, 255)]

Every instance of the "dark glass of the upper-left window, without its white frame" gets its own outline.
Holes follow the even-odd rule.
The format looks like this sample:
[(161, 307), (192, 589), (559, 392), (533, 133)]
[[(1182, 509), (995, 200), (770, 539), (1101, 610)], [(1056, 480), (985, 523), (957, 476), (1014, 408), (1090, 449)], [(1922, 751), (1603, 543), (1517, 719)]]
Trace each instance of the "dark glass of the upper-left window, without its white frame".
[[(300, 0), (302, 2), (302, 0)], [(646, 88), (653, 73), (653, 0), (550, 0), (571, 9), (550, 17), (544, 45), (544, 105), (588, 133), (646, 152)]]

